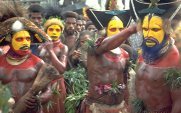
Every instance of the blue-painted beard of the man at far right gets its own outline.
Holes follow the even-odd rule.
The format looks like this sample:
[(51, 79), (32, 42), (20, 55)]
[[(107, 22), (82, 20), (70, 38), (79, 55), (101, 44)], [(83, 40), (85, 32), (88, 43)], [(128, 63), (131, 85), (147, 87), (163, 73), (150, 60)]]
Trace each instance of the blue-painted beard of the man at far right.
[[(152, 41), (155, 43), (153, 47), (148, 47), (146, 45), (147, 41)], [(142, 51), (143, 51), (143, 59), (147, 63), (152, 63), (160, 56), (162, 56), (164, 53), (162, 52), (162, 49), (167, 46), (168, 37), (165, 36), (163, 41), (159, 44), (158, 40), (156, 40), (153, 37), (145, 38), (142, 43)]]

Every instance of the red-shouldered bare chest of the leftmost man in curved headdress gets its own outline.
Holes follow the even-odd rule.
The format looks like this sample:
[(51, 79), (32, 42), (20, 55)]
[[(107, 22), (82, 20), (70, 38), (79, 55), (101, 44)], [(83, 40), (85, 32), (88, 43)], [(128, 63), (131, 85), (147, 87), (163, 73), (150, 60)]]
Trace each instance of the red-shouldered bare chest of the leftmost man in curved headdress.
[(32, 54), (19, 65), (9, 64), (6, 61), (6, 54), (0, 56), (0, 59), (0, 81), (9, 85), (17, 101), (31, 87), (43, 61)]

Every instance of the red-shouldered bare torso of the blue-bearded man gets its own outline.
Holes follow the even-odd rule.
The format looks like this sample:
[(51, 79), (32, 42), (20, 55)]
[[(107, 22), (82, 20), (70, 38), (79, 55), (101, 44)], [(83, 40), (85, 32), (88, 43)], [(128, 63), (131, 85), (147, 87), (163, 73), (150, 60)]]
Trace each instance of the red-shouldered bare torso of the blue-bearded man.
[(148, 111), (161, 111), (172, 106), (170, 89), (166, 85), (164, 72), (176, 67), (178, 62), (179, 53), (175, 46), (153, 65), (139, 62), (135, 84), (136, 95), (144, 102)]

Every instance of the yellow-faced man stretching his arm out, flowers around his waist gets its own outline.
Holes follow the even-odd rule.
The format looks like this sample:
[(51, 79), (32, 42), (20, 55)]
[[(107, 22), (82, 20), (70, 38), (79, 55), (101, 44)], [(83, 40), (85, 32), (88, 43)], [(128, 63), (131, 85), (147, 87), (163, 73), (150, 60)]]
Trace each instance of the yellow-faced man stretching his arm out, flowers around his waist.
[(126, 69), (129, 54), (119, 46), (134, 32), (135, 26), (124, 28), (123, 21), (113, 17), (107, 26), (107, 37), (89, 45), (89, 88), (81, 113), (129, 113)]

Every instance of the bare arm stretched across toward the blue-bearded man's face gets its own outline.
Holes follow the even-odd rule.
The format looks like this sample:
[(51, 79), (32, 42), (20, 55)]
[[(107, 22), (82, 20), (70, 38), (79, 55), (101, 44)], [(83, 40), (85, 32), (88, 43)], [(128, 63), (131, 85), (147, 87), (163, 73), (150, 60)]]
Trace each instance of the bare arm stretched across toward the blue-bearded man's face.
[(97, 54), (102, 54), (109, 50), (115, 49), (116, 47), (120, 46), (130, 35), (136, 32), (136, 25), (125, 28), (118, 34), (105, 38), (95, 51)]

